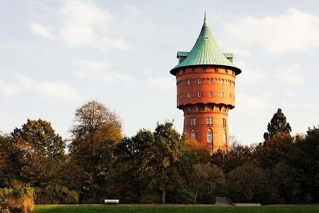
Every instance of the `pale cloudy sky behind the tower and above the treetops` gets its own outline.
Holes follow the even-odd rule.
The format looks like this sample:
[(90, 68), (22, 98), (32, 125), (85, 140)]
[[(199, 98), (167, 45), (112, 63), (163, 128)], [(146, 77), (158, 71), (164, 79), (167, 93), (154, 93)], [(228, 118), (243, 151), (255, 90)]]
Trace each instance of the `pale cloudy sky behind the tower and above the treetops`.
[(0, 131), (46, 120), (70, 138), (75, 110), (89, 100), (116, 110), (123, 134), (176, 108), (177, 51), (190, 51), (204, 12), (219, 49), (234, 53), (229, 134), (263, 141), (281, 108), (292, 135), (319, 124), (318, 1), (0, 1)]

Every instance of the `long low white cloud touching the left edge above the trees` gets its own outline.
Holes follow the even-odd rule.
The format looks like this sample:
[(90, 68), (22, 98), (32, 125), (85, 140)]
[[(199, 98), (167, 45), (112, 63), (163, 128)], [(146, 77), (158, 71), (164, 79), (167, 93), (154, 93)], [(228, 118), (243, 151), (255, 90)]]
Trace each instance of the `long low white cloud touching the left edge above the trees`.
[(9, 84), (0, 80), (0, 94), (4, 97), (39, 96), (76, 101), (79, 94), (67, 84), (43, 82), (37, 83), (25, 76), (17, 76), (19, 84)]

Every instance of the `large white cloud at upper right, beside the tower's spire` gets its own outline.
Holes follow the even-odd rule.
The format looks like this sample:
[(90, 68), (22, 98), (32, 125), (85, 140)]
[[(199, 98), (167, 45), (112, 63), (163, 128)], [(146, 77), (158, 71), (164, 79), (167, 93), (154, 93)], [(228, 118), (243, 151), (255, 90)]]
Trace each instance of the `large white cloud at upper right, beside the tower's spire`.
[(286, 14), (255, 19), (246, 16), (236, 23), (228, 23), (222, 33), (223, 46), (241, 49), (249, 56), (251, 49), (268, 53), (304, 52), (319, 47), (319, 16), (289, 9)]

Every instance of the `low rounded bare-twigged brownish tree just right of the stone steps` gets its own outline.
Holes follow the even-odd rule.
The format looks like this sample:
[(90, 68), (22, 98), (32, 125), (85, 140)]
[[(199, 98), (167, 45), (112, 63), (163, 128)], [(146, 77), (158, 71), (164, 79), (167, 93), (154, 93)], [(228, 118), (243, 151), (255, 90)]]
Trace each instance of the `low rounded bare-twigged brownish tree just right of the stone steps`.
[(243, 193), (251, 202), (254, 192), (262, 188), (267, 181), (267, 174), (254, 164), (244, 164), (227, 174), (230, 187), (235, 193)]

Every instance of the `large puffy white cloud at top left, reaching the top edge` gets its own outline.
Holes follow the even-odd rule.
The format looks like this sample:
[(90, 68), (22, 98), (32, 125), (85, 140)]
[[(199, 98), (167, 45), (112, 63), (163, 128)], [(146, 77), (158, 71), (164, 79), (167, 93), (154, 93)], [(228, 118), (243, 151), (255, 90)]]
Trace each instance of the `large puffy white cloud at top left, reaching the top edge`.
[[(57, 16), (63, 19), (60, 26), (43, 27), (36, 22), (32, 22), (30, 25), (32, 33), (50, 39), (61, 39), (69, 46), (83, 45), (104, 49), (131, 49), (123, 38), (113, 40), (105, 36), (110, 14), (96, 7), (90, 0), (67, 0), (65, 7), (59, 10)], [(58, 29), (59, 34), (53, 36), (49, 32), (52, 28)]]

